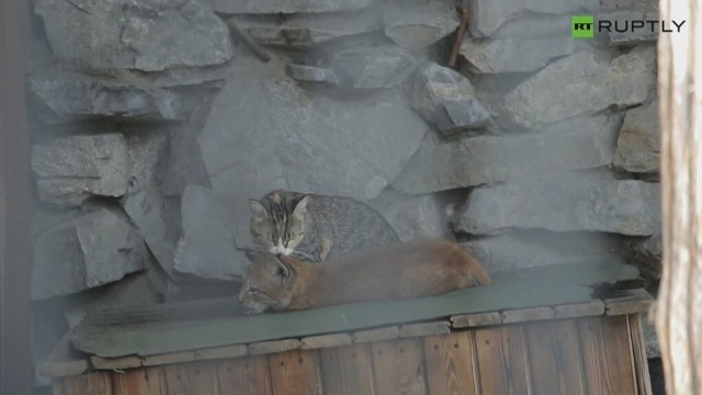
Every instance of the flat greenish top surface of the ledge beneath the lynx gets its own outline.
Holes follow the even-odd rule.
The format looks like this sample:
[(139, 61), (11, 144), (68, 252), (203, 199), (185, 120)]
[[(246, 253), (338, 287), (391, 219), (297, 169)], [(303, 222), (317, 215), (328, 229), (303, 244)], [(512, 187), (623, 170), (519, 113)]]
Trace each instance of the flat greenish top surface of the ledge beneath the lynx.
[[(554, 301), (562, 304), (584, 303), (591, 301), (588, 284), (638, 276), (636, 268), (612, 261), (557, 267), (496, 274), (490, 286), (469, 287), (446, 295), (354, 303), (280, 314), (234, 316), (230, 312), (236, 306), (236, 300), (226, 303), (199, 301), (185, 304), (186, 307), (173, 304), (176, 306), (171, 305), (168, 309), (151, 306), (102, 312), (86, 317), (77, 327), (72, 341), (81, 351), (102, 358), (248, 345), (273, 339), (353, 332), (454, 315), (550, 306)], [(197, 309), (211, 312), (205, 314)]]

